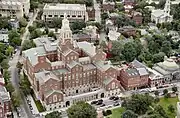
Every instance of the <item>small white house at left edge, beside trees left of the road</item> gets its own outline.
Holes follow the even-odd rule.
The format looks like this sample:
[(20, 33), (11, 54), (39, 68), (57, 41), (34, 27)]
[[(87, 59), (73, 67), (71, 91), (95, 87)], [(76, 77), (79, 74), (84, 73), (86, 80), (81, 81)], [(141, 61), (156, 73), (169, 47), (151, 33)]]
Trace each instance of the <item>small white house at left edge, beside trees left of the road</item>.
[(0, 41), (8, 43), (8, 29), (1, 29), (0, 30)]

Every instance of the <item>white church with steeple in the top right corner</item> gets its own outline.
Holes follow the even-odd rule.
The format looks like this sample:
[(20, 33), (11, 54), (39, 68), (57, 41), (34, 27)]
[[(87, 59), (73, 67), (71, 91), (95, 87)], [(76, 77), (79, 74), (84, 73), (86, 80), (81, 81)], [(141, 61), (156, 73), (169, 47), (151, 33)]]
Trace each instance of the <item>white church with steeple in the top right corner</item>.
[(170, 0), (166, 0), (166, 4), (163, 10), (152, 10), (151, 21), (155, 21), (156, 24), (163, 22), (171, 22), (173, 20), (173, 16), (170, 15), (170, 4)]

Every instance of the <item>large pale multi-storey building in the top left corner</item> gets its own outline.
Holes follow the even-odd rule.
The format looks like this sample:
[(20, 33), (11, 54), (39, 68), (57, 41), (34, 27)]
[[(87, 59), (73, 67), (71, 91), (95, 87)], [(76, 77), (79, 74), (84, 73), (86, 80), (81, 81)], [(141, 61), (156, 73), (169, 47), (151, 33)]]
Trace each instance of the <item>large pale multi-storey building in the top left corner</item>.
[(0, 16), (21, 18), (28, 15), (30, 9), (29, 0), (1, 0)]

